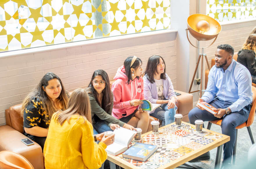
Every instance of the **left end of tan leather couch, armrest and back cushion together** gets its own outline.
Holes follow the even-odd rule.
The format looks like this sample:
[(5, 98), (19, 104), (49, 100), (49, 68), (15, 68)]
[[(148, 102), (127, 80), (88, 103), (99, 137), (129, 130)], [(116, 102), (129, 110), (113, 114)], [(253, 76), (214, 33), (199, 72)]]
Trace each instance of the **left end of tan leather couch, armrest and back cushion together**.
[(20, 116), (22, 104), (14, 105), (5, 110), (6, 125), (0, 126), (0, 151), (8, 150), (25, 157), (35, 169), (43, 169), (43, 153), (39, 144), (26, 146), (22, 139), (23, 118)]

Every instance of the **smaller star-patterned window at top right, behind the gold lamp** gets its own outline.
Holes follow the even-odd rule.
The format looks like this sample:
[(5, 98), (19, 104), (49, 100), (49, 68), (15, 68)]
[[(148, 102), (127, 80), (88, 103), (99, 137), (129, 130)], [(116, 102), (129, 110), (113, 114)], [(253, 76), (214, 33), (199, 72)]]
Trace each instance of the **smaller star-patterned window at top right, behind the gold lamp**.
[(207, 0), (206, 14), (217, 21), (256, 17), (256, 0)]

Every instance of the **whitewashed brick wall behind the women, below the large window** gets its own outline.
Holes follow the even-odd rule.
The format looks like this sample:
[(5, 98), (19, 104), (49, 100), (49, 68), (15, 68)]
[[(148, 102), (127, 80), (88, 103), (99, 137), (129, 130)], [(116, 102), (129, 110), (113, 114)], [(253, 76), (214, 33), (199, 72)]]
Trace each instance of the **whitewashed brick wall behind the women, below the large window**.
[(104, 69), (113, 79), (126, 57), (136, 55), (146, 68), (148, 57), (161, 55), (166, 62), (167, 74), (176, 87), (176, 41), (170, 36), (152, 36), (94, 45), (84, 45), (53, 51), (0, 58), (0, 125), (6, 123), (5, 109), (22, 103), (22, 99), (51, 71), (56, 73), (72, 91), (85, 88), (92, 73)]

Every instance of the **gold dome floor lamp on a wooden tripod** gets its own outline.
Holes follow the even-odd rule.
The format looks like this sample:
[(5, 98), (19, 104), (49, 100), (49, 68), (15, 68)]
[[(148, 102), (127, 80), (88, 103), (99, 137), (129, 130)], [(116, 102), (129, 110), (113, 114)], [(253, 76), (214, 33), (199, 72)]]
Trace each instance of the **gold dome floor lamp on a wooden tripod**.
[[(193, 15), (190, 15), (187, 18), (186, 33), (187, 33), (187, 31), (189, 31), (189, 33), (194, 38), (196, 38), (197, 40), (204, 40), (205, 41), (205, 40), (211, 40), (211, 39), (215, 38), (214, 41), (208, 46), (208, 47), (210, 47), (215, 42), (215, 40), (217, 39), (218, 34), (221, 32), (221, 25), (219, 24), (218, 21), (216, 21), (214, 18), (212, 18), (210, 16), (207, 16), (207, 15), (204, 15), (204, 14), (193, 14)], [(189, 37), (188, 37), (188, 33), (187, 33), (187, 39), (193, 47), (196, 47), (190, 42)], [(205, 48), (208, 48), (208, 47), (205, 47)], [(202, 79), (203, 79), (203, 57), (204, 56), (205, 56), (205, 60), (206, 60), (206, 63), (207, 63), (207, 66), (208, 66), (209, 70), (210, 70), (210, 65), (209, 65), (209, 62), (207, 60), (207, 56), (204, 53), (205, 48), (199, 48), (199, 46), (196, 47), (196, 48), (202, 49), (202, 53), (200, 53), (199, 57), (198, 57), (198, 61), (197, 61), (197, 64), (196, 64), (196, 69), (194, 71), (193, 79), (192, 79), (190, 87), (189, 87), (189, 93), (194, 93), (194, 92), (199, 92), (200, 91), (200, 97), (202, 97), (202, 90), (203, 90), (203, 81), (202, 81)], [(200, 59), (202, 59), (201, 60), (200, 90), (196, 90), (194, 92), (191, 92), (191, 88), (192, 88), (192, 85), (193, 85), (193, 81), (194, 81), (194, 78), (195, 78), (195, 75), (196, 75), (196, 71), (197, 71)]]

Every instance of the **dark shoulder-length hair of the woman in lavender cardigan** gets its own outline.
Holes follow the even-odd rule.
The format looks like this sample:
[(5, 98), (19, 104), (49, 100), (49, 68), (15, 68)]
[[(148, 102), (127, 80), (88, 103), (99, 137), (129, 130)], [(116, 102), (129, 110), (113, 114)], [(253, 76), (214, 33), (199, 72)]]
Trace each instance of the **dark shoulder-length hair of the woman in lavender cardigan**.
[[(147, 79), (150, 83), (155, 82), (154, 75), (158, 74), (157, 65), (160, 64), (160, 58), (164, 62), (164, 59), (159, 55), (153, 55), (153, 56), (148, 58), (148, 63), (147, 63), (145, 75), (147, 75), (146, 77), (147, 77)], [(165, 62), (164, 62), (164, 73), (161, 73), (160, 78), (161, 79), (166, 79)]]

